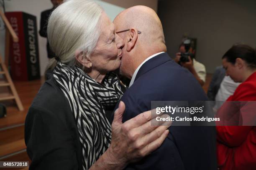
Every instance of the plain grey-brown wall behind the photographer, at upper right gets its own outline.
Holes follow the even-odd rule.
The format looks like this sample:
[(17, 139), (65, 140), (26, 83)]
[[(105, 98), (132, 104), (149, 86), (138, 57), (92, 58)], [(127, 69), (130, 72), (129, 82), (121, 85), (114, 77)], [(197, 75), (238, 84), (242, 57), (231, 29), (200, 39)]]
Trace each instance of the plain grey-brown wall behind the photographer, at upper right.
[(160, 0), (158, 14), (172, 57), (184, 32), (197, 38), (197, 60), (214, 72), (237, 42), (256, 47), (256, 0)]

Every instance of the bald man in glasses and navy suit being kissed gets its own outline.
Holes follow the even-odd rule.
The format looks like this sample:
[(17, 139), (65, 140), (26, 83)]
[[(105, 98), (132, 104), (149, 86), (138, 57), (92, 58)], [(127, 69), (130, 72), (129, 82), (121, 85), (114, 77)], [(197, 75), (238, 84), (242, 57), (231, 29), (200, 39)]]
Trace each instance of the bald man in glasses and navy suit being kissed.
[[(154, 10), (131, 7), (113, 22), (125, 42), (120, 73), (131, 78), (121, 98), (126, 106), (123, 122), (151, 110), (151, 101), (207, 100), (195, 77), (166, 53), (163, 28)], [(171, 126), (169, 130), (159, 149), (127, 169), (217, 169), (215, 127)]]

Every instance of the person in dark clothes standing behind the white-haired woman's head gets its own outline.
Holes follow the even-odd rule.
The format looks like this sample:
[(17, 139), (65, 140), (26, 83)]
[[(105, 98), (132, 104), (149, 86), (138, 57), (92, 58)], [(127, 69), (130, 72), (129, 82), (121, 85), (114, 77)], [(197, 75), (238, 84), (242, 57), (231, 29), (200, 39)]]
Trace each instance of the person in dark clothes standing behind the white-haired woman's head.
[[(51, 14), (51, 12), (61, 3), (63, 2), (63, 0), (51, 0), (51, 3), (53, 4), (53, 7), (51, 9), (45, 10), (41, 13), (41, 20), (40, 20), (40, 30), (39, 30), (39, 34), (42, 37), (46, 37), (47, 38), (47, 22), (48, 22), (48, 18)], [(54, 53), (52, 52), (48, 39), (47, 39), (47, 56), (48, 58), (53, 58), (54, 57)]]

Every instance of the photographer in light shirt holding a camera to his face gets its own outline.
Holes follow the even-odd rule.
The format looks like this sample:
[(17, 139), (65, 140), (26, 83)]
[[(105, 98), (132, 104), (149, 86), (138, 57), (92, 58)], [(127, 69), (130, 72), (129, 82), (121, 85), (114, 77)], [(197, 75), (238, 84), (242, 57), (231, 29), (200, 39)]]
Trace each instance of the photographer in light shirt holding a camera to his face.
[(198, 80), (201, 86), (205, 84), (206, 70), (205, 66), (195, 60), (195, 50), (191, 47), (190, 40), (184, 40), (179, 46), (179, 52), (176, 53), (174, 61), (182, 67), (186, 67)]

